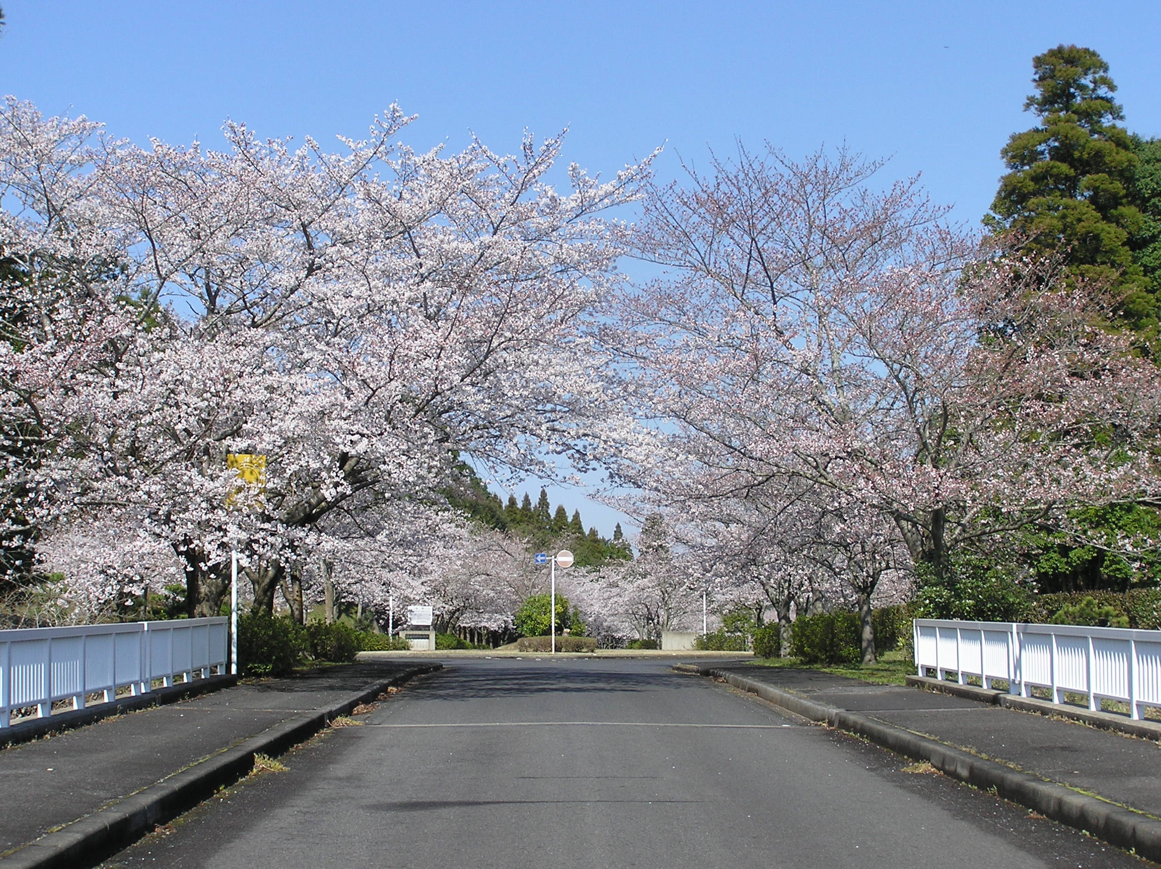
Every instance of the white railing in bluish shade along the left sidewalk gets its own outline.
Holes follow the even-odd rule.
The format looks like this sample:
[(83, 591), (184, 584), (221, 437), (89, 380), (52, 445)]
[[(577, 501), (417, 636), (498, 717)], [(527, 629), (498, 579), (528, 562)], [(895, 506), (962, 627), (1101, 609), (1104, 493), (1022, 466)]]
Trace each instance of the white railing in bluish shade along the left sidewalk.
[(113, 701), (118, 688), (144, 694), (161, 680), (225, 673), (229, 619), (190, 618), (0, 631), (0, 727), (16, 710), (52, 714), (57, 701), (84, 709), (86, 696)]

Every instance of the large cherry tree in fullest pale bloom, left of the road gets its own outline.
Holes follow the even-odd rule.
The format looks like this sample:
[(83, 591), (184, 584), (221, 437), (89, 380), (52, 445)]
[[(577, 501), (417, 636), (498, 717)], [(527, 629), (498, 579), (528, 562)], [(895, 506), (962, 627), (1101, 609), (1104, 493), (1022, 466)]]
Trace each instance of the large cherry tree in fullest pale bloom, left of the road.
[[(342, 153), (228, 124), (214, 152), (7, 102), (3, 254), (28, 275), (0, 345), (8, 537), (116, 510), (181, 556), (192, 615), (217, 611), (238, 546), (269, 610), (352, 500), (569, 447), (601, 395), (582, 325), (627, 238), (600, 214), (648, 166), (571, 166), (558, 192), (558, 137), (417, 153), (392, 144), (409, 120)], [(230, 453), (268, 459), (245, 510)]]

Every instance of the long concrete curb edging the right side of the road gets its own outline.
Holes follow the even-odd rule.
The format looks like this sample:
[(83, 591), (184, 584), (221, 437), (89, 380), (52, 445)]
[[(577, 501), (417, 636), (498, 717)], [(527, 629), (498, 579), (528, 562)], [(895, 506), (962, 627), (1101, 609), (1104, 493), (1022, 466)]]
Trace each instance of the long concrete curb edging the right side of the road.
[(1052, 820), (1087, 832), (1138, 856), (1161, 862), (1161, 820), (1144, 812), (1080, 793), (1031, 773), (1005, 767), (859, 712), (815, 703), (785, 689), (728, 670), (698, 665), (693, 667), (702, 675), (722, 678), (813, 721), (825, 723), (837, 730), (863, 737), (913, 760), (926, 761), (953, 778), (1032, 809)]

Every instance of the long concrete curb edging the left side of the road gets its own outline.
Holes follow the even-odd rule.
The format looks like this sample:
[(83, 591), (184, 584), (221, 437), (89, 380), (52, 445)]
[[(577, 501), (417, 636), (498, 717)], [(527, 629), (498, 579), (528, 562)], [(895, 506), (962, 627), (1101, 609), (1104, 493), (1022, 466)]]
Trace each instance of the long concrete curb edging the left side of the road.
[(132, 845), (157, 825), (172, 820), (211, 797), (218, 789), (245, 777), (253, 769), (255, 754), (283, 754), (310, 739), (339, 716), (349, 714), (360, 703), (374, 699), (388, 688), (439, 669), (442, 669), (440, 663), (418, 665), (389, 678), (369, 683), (358, 694), (348, 695), (330, 706), (281, 721), (257, 737), (201, 760), (107, 809), (22, 846), (0, 857), (0, 868), (79, 869), (96, 866)]

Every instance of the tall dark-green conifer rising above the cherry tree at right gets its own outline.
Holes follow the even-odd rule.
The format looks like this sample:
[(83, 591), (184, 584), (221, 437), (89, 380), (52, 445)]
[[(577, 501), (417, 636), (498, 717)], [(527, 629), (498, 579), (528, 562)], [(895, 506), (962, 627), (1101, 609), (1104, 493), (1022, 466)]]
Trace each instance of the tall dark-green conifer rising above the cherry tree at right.
[(1138, 157), (1115, 121), (1109, 64), (1091, 49), (1058, 45), (1032, 58), (1037, 93), (1025, 110), (1040, 119), (1001, 151), (1011, 170), (1000, 180), (986, 223), (1016, 230), (1033, 250), (1062, 251), (1077, 275), (1106, 282), (1120, 296), (1123, 325), (1156, 333), (1156, 296), (1135, 261), (1145, 222), (1133, 203)]

